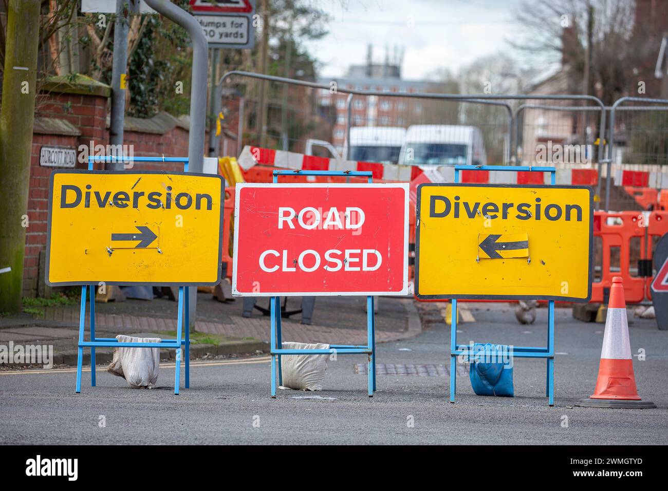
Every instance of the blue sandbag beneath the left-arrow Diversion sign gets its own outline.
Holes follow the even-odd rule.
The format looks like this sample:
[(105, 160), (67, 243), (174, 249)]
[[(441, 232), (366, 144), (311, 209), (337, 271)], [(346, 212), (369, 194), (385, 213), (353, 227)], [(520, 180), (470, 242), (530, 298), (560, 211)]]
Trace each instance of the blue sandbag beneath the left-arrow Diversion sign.
[[(506, 345), (474, 343), (469, 378), (476, 395), (513, 397), (512, 351)], [(497, 361), (500, 363), (485, 363)]]

